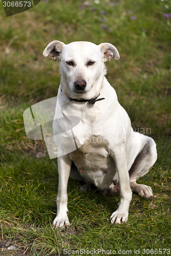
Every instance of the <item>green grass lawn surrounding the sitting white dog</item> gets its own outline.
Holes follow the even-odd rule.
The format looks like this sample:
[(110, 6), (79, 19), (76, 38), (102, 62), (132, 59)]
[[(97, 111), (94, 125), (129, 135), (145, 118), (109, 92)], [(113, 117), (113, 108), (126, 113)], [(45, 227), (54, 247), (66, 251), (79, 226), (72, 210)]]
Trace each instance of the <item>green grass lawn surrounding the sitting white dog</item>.
[[(90, 0), (89, 5), (74, 0), (41, 1), (10, 17), (1, 8), (0, 255), (67, 255), (64, 249), (100, 248), (116, 253), (131, 250), (133, 255), (140, 249), (139, 255), (154, 255), (153, 251), (142, 254), (142, 250), (170, 248), (171, 19), (163, 16), (171, 13), (170, 7), (169, 1), (160, 0), (99, 4)], [(119, 196), (104, 198), (97, 190), (81, 194), (80, 183), (70, 179), (72, 227), (63, 232), (52, 228), (57, 160), (49, 159), (44, 141), (26, 137), (23, 112), (57, 94), (59, 65), (42, 56), (55, 39), (66, 44), (110, 42), (117, 47), (120, 60), (106, 63), (107, 78), (134, 130), (151, 129), (147, 135), (157, 143), (158, 160), (139, 180), (153, 188), (154, 198), (133, 194), (129, 220), (123, 225), (109, 223)], [(10, 245), (17, 250), (8, 251)]]

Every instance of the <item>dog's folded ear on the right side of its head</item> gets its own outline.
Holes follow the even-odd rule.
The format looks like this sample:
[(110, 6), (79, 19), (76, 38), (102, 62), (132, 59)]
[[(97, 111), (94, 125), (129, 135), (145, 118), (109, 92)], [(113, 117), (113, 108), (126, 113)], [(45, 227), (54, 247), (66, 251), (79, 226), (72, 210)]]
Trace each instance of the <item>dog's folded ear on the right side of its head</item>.
[(102, 52), (104, 62), (111, 60), (112, 58), (114, 59), (120, 58), (119, 52), (116, 49), (116, 47), (109, 44), (109, 42), (103, 42), (102, 44), (99, 45), (99, 47)]

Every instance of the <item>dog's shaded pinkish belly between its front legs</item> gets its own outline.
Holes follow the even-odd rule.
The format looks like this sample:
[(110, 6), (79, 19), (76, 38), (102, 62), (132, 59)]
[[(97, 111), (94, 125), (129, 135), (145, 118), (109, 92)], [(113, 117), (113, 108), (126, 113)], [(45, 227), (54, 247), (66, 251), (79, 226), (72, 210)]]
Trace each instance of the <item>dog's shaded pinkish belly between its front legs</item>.
[(101, 190), (109, 188), (113, 180), (118, 180), (115, 162), (105, 147), (84, 143), (70, 153), (70, 158), (81, 170), (81, 175)]

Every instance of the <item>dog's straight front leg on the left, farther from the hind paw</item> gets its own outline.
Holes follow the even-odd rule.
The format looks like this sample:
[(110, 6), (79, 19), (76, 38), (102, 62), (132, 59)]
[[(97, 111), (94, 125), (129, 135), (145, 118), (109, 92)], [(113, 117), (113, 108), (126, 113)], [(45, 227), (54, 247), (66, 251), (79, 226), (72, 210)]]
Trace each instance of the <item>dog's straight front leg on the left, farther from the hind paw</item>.
[(57, 215), (53, 221), (53, 225), (56, 227), (69, 227), (70, 222), (68, 219), (68, 195), (67, 185), (71, 169), (71, 160), (68, 155), (58, 157), (58, 195), (56, 199), (57, 203)]

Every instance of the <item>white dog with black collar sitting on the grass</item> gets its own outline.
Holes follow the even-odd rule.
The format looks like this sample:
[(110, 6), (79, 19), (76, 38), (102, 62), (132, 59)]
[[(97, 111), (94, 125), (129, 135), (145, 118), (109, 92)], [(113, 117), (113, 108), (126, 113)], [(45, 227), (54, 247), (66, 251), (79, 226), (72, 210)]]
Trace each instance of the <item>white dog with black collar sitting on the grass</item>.
[[(72, 161), (78, 168), (77, 175), (100, 190), (110, 190), (113, 194), (120, 191), (120, 203), (110, 221), (124, 223), (129, 215), (132, 190), (142, 197), (153, 197), (151, 187), (137, 184), (136, 180), (154, 165), (157, 151), (152, 138), (133, 131), (129, 116), (105, 78), (104, 62), (119, 59), (119, 53), (109, 43), (95, 45), (85, 41), (68, 45), (52, 41), (44, 56), (49, 53), (53, 60), (60, 61), (61, 83), (57, 98), (62, 115), (80, 118), (81, 126), (75, 127), (74, 141), (82, 145), (58, 157), (57, 216), (53, 224), (70, 226), (67, 184)], [(57, 118), (58, 108), (54, 120)], [(56, 125), (54, 122), (54, 132)]]

